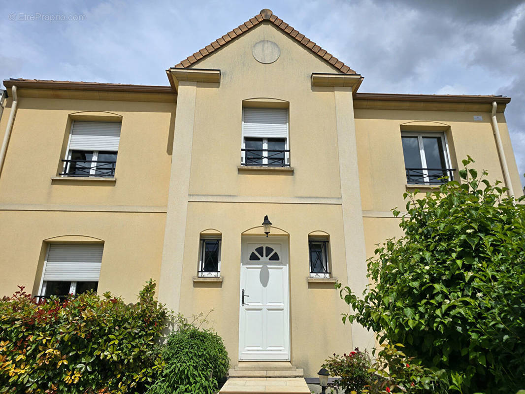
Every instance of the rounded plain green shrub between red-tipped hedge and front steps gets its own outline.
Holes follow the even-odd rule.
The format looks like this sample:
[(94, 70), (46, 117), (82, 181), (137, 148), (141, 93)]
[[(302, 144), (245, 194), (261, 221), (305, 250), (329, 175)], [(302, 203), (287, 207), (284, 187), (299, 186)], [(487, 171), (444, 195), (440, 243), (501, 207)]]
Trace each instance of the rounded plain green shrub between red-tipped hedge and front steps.
[(177, 316), (177, 330), (162, 350), (165, 365), (148, 394), (213, 394), (217, 391), (218, 379), (228, 372), (228, 353), (223, 340), (213, 330), (201, 329), (195, 322), (196, 319), (188, 323), (181, 315)]

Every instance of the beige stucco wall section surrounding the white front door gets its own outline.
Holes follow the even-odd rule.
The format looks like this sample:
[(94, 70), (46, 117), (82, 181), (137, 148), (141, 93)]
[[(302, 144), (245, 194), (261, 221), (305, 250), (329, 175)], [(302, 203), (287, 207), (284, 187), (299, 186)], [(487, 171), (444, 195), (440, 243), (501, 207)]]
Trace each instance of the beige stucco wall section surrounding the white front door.
[[(238, 362), (240, 253), (242, 233), (260, 224), (267, 214), (273, 226), (289, 235), (289, 278), (292, 363), (314, 376), (333, 352), (352, 349), (350, 327), (341, 322), (346, 304), (332, 283), (308, 284), (308, 234), (324, 231), (330, 235), (331, 271), (346, 284), (341, 206), (337, 204), (188, 204), (180, 311), (185, 315), (207, 314), (223, 337), (232, 364)], [(193, 283), (197, 275), (199, 233), (215, 229), (222, 233), (220, 275), (222, 285)], [(271, 242), (261, 234), (261, 242)], [(274, 233), (276, 231), (274, 230)], [(280, 232), (282, 233), (282, 232)], [(316, 369), (317, 368), (317, 369)]]

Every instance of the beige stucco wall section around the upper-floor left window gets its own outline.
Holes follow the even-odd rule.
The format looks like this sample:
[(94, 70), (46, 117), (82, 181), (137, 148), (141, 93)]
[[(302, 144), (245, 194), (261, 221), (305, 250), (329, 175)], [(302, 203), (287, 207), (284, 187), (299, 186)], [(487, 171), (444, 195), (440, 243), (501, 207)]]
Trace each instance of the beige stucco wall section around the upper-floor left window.
[[(174, 107), (174, 102), (19, 97), (0, 176), (0, 204), (165, 207)], [(9, 109), (6, 108), (0, 122), (2, 138)], [(114, 185), (51, 182), (51, 177), (58, 174), (60, 160), (64, 159), (70, 115), (79, 111), (105, 111), (122, 116)]]

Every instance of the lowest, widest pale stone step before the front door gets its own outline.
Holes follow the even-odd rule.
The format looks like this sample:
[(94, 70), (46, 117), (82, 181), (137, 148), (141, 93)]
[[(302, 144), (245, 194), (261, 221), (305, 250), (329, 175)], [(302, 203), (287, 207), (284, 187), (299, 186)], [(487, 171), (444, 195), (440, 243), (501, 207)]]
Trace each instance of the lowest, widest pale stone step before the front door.
[(303, 378), (229, 378), (219, 394), (310, 394)]

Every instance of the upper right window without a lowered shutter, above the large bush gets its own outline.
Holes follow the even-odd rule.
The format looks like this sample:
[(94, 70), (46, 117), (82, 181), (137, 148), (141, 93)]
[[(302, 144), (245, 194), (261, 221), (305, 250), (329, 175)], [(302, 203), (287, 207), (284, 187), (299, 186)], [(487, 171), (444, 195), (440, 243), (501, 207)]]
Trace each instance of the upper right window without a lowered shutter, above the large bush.
[(443, 133), (402, 132), (406, 182), (408, 184), (441, 184), (452, 180), (448, 148)]

